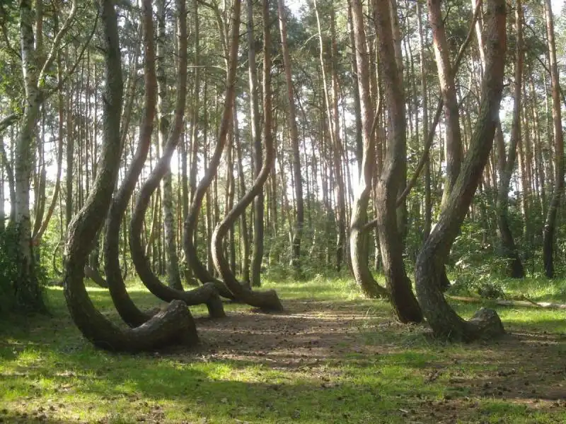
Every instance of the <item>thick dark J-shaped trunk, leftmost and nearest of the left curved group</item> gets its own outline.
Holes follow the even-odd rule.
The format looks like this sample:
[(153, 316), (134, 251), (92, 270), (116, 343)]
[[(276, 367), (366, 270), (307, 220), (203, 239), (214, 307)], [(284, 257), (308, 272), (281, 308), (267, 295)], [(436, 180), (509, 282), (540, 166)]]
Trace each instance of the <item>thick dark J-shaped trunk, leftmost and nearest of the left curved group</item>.
[[(76, 326), (89, 341), (109, 351), (139, 352), (161, 348), (171, 343), (195, 344), (198, 341), (195, 322), (182, 302), (172, 302), (136, 329), (122, 330), (94, 307), (83, 283), (83, 266), (93, 240), (103, 224), (104, 212), (112, 200), (120, 168), (120, 110), (122, 107), (122, 69), (118, 40), (117, 16), (111, 0), (100, 1), (105, 37), (106, 88), (103, 109), (103, 149), (100, 171), (85, 206), (68, 228), (67, 261), (65, 262), (64, 295)], [(151, 10), (151, 1), (144, 1)]]

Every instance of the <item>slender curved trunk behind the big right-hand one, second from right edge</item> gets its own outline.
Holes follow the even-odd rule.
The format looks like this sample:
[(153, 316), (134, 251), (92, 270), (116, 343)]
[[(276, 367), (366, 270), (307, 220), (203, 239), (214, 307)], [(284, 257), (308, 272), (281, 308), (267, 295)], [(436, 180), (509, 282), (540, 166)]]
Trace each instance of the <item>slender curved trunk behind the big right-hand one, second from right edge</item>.
[[(513, 122), (511, 126), (511, 139), (509, 140), (509, 153), (507, 160), (500, 158), (499, 190), (497, 192), (497, 228), (503, 247), (503, 254), (509, 261), (507, 275), (512, 278), (523, 278), (525, 271), (511, 228), (509, 228), (509, 184), (515, 167), (517, 144), (521, 138), (521, 93), (523, 85), (523, 6), (521, 0), (515, 6), (515, 90), (513, 105)], [(504, 153), (504, 152), (503, 152)], [(523, 188), (524, 189), (524, 188)], [(524, 189), (525, 190), (525, 189)]]

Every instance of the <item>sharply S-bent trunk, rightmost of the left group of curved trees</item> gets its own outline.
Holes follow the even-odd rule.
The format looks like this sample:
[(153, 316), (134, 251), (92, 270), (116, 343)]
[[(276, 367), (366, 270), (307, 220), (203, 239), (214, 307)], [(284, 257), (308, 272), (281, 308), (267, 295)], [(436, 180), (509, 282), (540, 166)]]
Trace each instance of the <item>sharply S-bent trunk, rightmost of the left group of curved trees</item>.
[[(235, 62), (238, 53), (238, 22), (240, 19), (240, 1), (236, 0), (233, 6), (233, 28), (231, 35), (231, 54), (230, 54), (230, 70), (233, 69), (235, 76)], [(271, 43), (270, 43), (270, 33), (269, 33), (269, 1), (263, 1), (263, 25), (264, 25), (264, 57), (263, 57), (263, 119), (264, 119), (264, 139), (265, 139), (265, 160), (258, 174), (258, 177), (253, 182), (250, 191), (247, 192), (238, 204), (234, 206), (229, 213), (226, 213), (224, 219), (216, 225), (214, 232), (212, 233), (212, 260), (214, 261), (214, 266), (216, 270), (220, 273), (224, 279), (224, 283), (228, 286), (229, 290), (236, 297), (236, 300), (241, 300), (255, 307), (260, 307), (262, 310), (266, 311), (281, 311), (283, 306), (277, 297), (275, 290), (268, 290), (265, 292), (257, 292), (248, 290), (244, 288), (230, 270), (229, 262), (224, 257), (224, 249), (222, 248), (224, 236), (231, 228), (231, 225), (236, 222), (238, 216), (246, 211), (246, 208), (253, 201), (255, 196), (257, 196), (263, 189), (263, 184), (267, 181), (267, 177), (270, 175), (271, 167), (275, 159), (275, 152), (273, 149), (272, 141), (272, 106), (271, 106)], [(226, 112), (226, 108), (224, 110)], [(231, 108), (224, 114), (223, 119), (231, 119)], [(221, 127), (228, 126), (224, 120), (221, 123)], [(222, 136), (223, 133), (221, 133)], [(226, 137), (226, 136), (224, 136)], [(224, 143), (222, 141), (222, 143)]]

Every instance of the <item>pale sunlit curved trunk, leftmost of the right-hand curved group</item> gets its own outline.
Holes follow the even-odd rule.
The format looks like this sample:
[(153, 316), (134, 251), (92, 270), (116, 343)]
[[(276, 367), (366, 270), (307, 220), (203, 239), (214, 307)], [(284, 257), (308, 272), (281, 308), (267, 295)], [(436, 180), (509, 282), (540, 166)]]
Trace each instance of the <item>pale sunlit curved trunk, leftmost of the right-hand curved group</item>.
[[(388, 297), (387, 290), (381, 287), (369, 271), (369, 237), (364, 232), (367, 223), (367, 206), (371, 192), (371, 178), (374, 172), (375, 139), (372, 131), (371, 100), (369, 98), (369, 57), (366, 47), (366, 32), (359, 0), (352, 0), (352, 28), (358, 70), (358, 90), (362, 113), (362, 172), (359, 174), (358, 192), (352, 205), (350, 220), (350, 256), (354, 278), (362, 293), (368, 298)], [(381, 102), (376, 110), (380, 110)]]

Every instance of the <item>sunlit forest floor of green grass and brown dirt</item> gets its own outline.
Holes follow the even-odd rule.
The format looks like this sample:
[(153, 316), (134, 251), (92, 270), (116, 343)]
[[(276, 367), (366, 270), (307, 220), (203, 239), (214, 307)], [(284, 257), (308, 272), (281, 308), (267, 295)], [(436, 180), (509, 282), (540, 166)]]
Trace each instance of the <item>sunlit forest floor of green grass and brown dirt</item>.
[[(210, 320), (195, 308), (200, 346), (144, 355), (93, 348), (48, 289), (52, 318), (0, 322), (0, 422), (566, 422), (564, 310), (496, 307), (505, 338), (449, 344), (398, 324), (352, 281), (266, 286), (284, 314), (227, 303), (228, 317)], [(89, 293), (117, 320), (105, 290)], [(131, 293), (158, 304), (139, 285)], [(478, 307), (453, 305), (464, 317)]]

